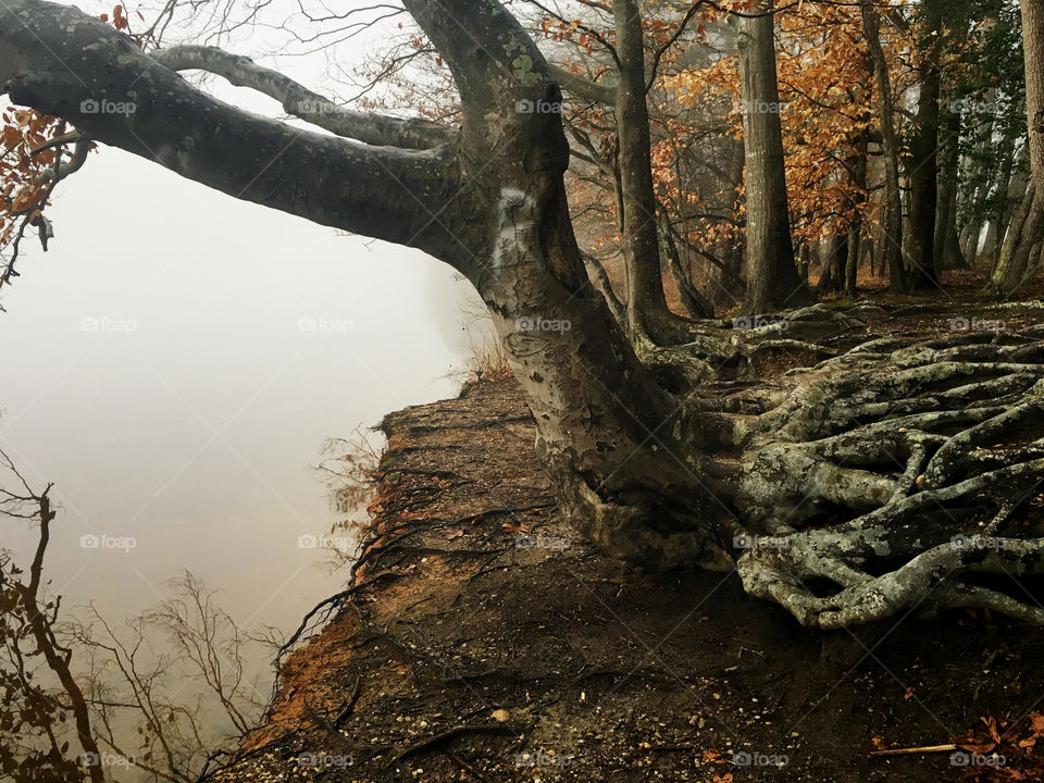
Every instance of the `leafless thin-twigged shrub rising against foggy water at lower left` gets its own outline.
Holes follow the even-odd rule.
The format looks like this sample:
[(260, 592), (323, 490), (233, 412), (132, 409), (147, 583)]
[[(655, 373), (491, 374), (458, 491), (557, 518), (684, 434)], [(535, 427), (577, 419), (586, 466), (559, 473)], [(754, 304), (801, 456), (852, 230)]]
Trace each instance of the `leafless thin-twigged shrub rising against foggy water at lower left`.
[(258, 725), (266, 699), (245, 675), (251, 638), (213, 591), (187, 572), (167, 586), (170, 598), (122, 626), (91, 608), (64, 633), (87, 662), (99, 745), (150, 780), (195, 783)]

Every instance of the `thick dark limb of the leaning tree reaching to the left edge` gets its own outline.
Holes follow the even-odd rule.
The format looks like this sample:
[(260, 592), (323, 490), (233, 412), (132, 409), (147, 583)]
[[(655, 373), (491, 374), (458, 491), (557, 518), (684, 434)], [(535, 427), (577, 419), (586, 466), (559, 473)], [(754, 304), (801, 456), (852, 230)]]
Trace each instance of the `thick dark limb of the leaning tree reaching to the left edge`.
[[(0, 90), (90, 138), (189, 179), (315, 223), (473, 263), (452, 151), (368, 147), (224, 103), (78, 9), (0, 9)], [(445, 204), (436, 217), (426, 204)]]

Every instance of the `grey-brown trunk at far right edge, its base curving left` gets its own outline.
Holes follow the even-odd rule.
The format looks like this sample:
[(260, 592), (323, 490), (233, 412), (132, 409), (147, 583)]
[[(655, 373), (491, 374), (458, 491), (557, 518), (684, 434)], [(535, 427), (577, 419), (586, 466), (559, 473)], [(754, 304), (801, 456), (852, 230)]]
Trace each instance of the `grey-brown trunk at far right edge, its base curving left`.
[(1031, 272), (1034, 249), (1044, 239), (1044, 8), (1032, 0), (1022, 0), (1020, 5), (1031, 187), (1016, 219), (1021, 229), (1008, 232), (1000, 261), (990, 278), (991, 290), (1003, 298), (1018, 293)]

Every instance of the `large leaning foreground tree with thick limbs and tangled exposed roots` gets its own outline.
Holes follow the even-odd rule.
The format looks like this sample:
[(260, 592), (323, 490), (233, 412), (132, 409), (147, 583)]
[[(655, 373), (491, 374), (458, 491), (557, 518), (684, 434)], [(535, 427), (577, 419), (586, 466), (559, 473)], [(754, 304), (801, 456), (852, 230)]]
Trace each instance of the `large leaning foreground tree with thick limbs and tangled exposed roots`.
[[(608, 552), (648, 569), (735, 568), (753, 595), (808, 625), (961, 606), (1044, 622), (1018, 594), (975, 581), (1044, 570), (1044, 539), (1021, 526), (1044, 476), (1039, 446), (977, 448), (1041, 430), (1037, 332), (867, 343), (865, 323), (807, 308), (783, 324), (706, 327), (639, 360), (589, 286), (559, 112), (518, 111), (561, 103), (544, 54), (495, 0), (403, 4), (452, 75), (459, 128), (350, 111), (219, 49), (139, 48), (44, 0), (8, 3), (0, 83), (95, 141), (456, 268), (490, 311), (559, 502)], [(763, 47), (771, 18), (750, 18)], [(260, 90), (330, 134), (220, 102), (175, 73), (190, 69)], [(754, 71), (763, 99), (771, 78)], [(84, 111), (130, 90), (134, 112)], [(838, 339), (810, 341), (824, 334)], [(781, 351), (806, 366), (734, 383)], [(970, 536), (982, 531), (1004, 550)]]

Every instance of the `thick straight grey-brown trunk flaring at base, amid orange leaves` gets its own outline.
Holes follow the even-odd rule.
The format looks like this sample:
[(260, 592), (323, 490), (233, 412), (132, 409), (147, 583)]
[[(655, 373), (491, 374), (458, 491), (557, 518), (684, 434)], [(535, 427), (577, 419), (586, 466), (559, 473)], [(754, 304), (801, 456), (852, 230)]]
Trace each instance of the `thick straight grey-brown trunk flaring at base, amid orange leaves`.
[(747, 185), (747, 291), (744, 309), (763, 313), (810, 299), (797, 274), (783, 159), (772, 0), (758, 0), (739, 27)]

